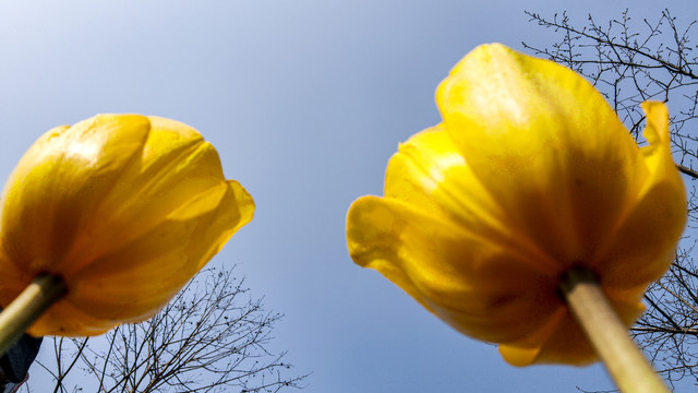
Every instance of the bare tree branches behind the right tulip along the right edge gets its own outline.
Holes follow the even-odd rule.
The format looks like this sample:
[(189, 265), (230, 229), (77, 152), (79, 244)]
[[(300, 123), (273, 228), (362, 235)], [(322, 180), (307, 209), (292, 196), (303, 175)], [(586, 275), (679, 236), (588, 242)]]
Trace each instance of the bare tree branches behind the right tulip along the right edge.
[[(626, 10), (619, 19), (598, 23), (591, 15), (581, 26), (566, 13), (546, 19), (527, 12), (531, 22), (550, 28), (549, 47), (524, 46), (588, 78), (640, 144), (645, 116), (640, 103), (667, 103), (672, 150), (689, 190), (688, 230), (676, 259), (645, 296), (647, 312), (633, 327), (638, 344), (670, 382), (690, 378), (698, 384), (698, 270), (695, 233), (698, 216), (698, 59), (690, 29), (664, 10), (655, 20), (635, 21)], [(684, 21), (685, 22), (685, 21)]]

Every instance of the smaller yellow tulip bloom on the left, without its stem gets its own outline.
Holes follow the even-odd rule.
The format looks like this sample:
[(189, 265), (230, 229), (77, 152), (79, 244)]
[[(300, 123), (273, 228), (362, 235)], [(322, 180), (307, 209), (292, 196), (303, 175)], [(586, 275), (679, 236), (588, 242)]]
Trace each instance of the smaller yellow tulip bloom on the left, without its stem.
[(0, 305), (32, 279), (68, 294), (34, 335), (95, 335), (154, 315), (243, 225), (254, 202), (216, 150), (180, 122), (101, 115), (58, 127), (8, 180)]

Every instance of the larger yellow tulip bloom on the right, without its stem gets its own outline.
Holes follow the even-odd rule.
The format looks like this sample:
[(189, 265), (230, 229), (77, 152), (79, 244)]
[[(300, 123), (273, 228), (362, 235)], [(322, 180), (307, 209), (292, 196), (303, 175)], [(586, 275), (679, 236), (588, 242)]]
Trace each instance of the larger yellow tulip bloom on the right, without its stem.
[(666, 108), (643, 104), (638, 148), (581, 76), (502, 45), (467, 55), (436, 100), (443, 123), (399, 146), (385, 196), (351, 205), (351, 258), (513, 365), (595, 360), (561, 276), (593, 272), (627, 326), (642, 312), (686, 222)]

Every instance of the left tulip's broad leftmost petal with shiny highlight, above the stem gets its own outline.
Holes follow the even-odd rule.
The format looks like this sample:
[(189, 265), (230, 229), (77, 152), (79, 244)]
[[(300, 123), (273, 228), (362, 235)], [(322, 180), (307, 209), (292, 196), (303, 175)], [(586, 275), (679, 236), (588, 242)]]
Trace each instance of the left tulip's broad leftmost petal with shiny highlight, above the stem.
[(148, 131), (143, 116), (105, 115), (56, 128), (32, 145), (4, 189), (0, 241), (9, 260), (23, 271), (60, 273), (79, 228)]

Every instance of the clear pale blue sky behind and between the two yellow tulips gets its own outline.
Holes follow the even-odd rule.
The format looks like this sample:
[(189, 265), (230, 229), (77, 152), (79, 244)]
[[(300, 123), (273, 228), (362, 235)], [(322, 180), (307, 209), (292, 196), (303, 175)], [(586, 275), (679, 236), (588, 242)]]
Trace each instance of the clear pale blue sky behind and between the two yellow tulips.
[[(619, 2), (618, 2), (619, 3)], [(518, 369), (465, 337), (346, 250), (345, 215), (381, 194), (398, 142), (435, 124), (434, 90), (482, 43), (545, 45), (525, 10), (580, 23), (639, 21), (634, 1), (7, 0), (0, 3), (0, 176), (46, 130), (99, 112), (197, 128), (254, 221), (214, 259), (286, 314), (305, 392), (577, 392), (612, 385), (599, 366)], [(681, 17), (694, 1), (671, 2)], [(684, 22), (687, 22), (684, 20)]]

